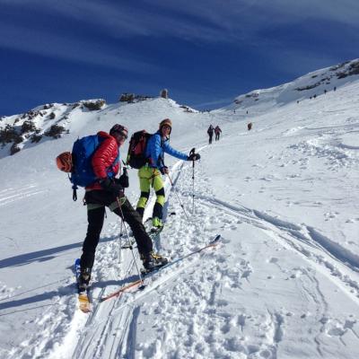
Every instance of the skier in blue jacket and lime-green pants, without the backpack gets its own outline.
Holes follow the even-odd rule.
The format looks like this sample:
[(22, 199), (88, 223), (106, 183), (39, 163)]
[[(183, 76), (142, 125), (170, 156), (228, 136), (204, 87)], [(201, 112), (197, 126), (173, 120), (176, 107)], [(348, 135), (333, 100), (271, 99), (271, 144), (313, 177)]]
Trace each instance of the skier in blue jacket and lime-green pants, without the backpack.
[(153, 206), (153, 227), (162, 227), (162, 209), (165, 201), (164, 188), (161, 174), (168, 174), (169, 169), (164, 164), (164, 153), (168, 153), (183, 161), (197, 161), (200, 158), (198, 153), (181, 153), (170, 145), (172, 122), (165, 118), (160, 123), (159, 130), (148, 139), (145, 148), (146, 164), (138, 171), (140, 181), (141, 197), (137, 202), (136, 211), (141, 217), (144, 216), (144, 207), (150, 196), (150, 188), (153, 187), (156, 193), (156, 203)]

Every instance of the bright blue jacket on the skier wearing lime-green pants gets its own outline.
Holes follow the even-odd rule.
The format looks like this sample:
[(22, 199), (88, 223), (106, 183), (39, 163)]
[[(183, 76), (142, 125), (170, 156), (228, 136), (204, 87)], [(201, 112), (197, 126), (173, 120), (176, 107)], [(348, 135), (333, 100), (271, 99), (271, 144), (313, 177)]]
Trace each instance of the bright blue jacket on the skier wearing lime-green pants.
[(147, 142), (145, 156), (149, 159), (148, 165), (153, 168), (162, 169), (164, 153), (171, 154), (171, 156), (187, 161), (188, 155), (171, 147), (169, 139), (162, 139), (160, 131), (157, 131)]

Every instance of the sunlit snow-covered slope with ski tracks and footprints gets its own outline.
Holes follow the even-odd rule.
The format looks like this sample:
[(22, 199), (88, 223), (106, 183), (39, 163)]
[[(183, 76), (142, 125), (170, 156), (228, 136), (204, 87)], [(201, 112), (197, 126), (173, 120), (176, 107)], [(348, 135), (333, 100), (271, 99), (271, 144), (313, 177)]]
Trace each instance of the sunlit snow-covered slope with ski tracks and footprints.
[[(250, 117), (243, 109), (189, 113), (163, 99), (79, 111), (69, 134), (3, 157), (0, 357), (357, 357), (359, 82), (350, 78), (316, 99), (272, 103), (265, 112), (253, 105)], [(156, 247), (175, 261), (217, 233), (221, 246), (149, 277), (144, 291), (100, 302), (136, 279), (129, 251), (119, 262), (120, 223), (108, 214), (92, 312), (83, 314), (72, 269), (86, 211), (54, 159), (77, 136), (114, 123), (153, 132), (166, 117), (171, 144), (195, 146), (202, 157), (194, 186), (192, 164), (166, 158), (176, 183), (166, 181), (167, 209), (176, 215)], [(210, 123), (223, 136), (208, 145)], [(134, 170), (130, 182), (136, 203)]]

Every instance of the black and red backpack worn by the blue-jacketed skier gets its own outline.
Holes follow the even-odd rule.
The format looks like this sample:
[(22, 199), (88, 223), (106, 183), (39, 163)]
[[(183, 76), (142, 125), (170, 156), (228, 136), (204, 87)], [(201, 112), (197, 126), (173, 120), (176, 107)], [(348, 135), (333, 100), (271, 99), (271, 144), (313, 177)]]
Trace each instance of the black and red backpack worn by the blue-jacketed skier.
[(128, 144), (127, 165), (138, 170), (148, 162), (148, 159), (145, 158), (145, 148), (151, 136), (144, 129), (131, 136)]

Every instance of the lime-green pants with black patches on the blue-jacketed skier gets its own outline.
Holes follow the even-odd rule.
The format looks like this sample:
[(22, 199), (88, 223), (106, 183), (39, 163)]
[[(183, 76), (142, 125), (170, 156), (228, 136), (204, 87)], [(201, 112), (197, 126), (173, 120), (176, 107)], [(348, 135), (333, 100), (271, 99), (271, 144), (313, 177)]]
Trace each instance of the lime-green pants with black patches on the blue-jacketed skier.
[(144, 166), (138, 170), (138, 178), (140, 180), (141, 197), (137, 202), (136, 211), (140, 215), (144, 215), (144, 207), (146, 206), (148, 197), (150, 197), (151, 187), (156, 193), (156, 203), (153, 206), (153, 218), (162, 218), (162, 209), (164, 205), (164, 188), (161, 172), (157, 169)]

